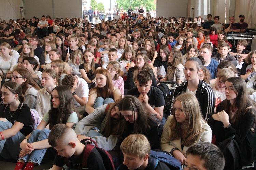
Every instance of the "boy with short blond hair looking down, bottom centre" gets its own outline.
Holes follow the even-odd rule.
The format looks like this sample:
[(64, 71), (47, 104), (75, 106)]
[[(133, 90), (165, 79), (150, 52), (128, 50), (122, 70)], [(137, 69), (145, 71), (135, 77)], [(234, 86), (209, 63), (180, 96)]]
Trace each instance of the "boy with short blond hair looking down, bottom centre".
[[(150, 155), (150, 143), (142, 134), (131, 134), (121, 144), (124, 162), (117, 170), (151, 169), (151, 163), (156, 159)], [(159, 161), (155, 170), (168, 170), (169, 167)]]

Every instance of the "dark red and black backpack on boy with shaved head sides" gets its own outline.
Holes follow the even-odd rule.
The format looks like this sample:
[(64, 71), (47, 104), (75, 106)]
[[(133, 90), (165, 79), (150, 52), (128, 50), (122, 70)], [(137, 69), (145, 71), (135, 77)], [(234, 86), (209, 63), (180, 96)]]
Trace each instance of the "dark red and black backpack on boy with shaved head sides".
[[(114, 166), (113, 159), (112, 159), (111, 155), (105, 149), (99, 148), (97, 143), (93, 139), (83, 139), (80, 142), (87, 141), (87, 140), (93, 142), (95, 146), (91, 145), (89, 143), (86, 143), (84, 155), (83, 155), (83, 159), (82, 159), (83, 160), (82, 168), (88, 168), (88, 165), (87, 165), (88, 157), (89, 157), (91, 151), (94, 148), (96, 148), (102, 157), (103, 164), (104, 164), (105, 168), (108, 170), (115, 170), (115, 166)], [(70, 167), (69, 158), (64, 158), (64, 161), (65, 161), (65, 164), (68, 167)]]

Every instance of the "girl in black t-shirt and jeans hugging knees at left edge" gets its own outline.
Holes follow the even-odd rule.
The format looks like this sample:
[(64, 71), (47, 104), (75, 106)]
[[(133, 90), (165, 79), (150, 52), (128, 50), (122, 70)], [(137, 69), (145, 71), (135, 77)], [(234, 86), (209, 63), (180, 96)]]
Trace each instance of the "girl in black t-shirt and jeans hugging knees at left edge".
[(19, 143), (33, 131), (30, 109), (24, 104), (18, 83), (6, 82), (1, 91), (4, 104), (0, 107), (0, 155), (7, 160), (18, 160)]

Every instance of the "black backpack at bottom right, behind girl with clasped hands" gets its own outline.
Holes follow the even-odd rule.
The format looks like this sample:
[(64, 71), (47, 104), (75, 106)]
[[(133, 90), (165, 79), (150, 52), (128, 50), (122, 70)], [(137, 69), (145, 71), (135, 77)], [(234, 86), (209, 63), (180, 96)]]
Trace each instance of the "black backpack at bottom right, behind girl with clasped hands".
[(234, 140), (234, 136), (225, 139), (219, 143), (219, 149), (221, 149), (225, 158), (224, 169), (239, 170), (242, 169), (242, 157), (238, 143)]

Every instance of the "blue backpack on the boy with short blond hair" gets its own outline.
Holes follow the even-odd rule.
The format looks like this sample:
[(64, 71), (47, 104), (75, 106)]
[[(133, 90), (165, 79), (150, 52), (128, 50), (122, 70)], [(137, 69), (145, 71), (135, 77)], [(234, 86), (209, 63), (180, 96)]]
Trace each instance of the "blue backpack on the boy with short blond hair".
[(152, 159), (150, 163), (151, 167), (149, 169), (155, 170), (157, 164), (159, 163), (159, 161), (161, 161), (165, 163), (171, 170), (182, 170), (180, 161), (169, 154), (166, 154), (164, 152), (155, 152), (151, 150), (150, 155)]

